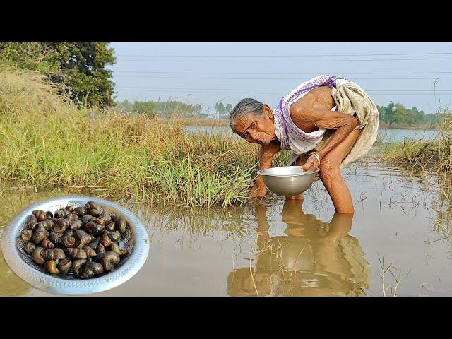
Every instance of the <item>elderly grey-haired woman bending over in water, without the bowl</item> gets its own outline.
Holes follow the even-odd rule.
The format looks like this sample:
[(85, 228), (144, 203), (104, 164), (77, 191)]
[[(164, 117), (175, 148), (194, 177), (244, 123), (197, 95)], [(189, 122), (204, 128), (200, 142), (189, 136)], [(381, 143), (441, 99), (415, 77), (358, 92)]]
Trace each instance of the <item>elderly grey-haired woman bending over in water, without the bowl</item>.
[[(254, 99), (241, 100), (232, 109), (230, 125), (249, 143), (261, 145), (260, 169), (269, 168), (280, 150), (292, 150), (290, 165), (320, 169), (336, 212), (354, 213), (340, 169), (367, 153), (379, 126), (378, 109), (359, 85), (336, 76), (317, 76), (297, 86), (274, 109)], [(265, 194), (259, 177), (250, 196)]]

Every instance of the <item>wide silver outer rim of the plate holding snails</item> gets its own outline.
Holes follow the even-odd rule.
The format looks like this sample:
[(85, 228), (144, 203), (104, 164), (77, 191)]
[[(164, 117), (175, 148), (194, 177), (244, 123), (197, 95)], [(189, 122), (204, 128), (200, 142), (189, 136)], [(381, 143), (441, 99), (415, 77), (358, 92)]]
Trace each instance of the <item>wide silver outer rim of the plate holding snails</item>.
[[(59, 201), (95, 201), (101, 203), (109, 208), (114, 208), (120, 213), (126, 215), (131, 222), (132, 232), (135, 236), (135, 242), (133, 245), (133, 251), (127, 258), (127, 261), (110, 273), (102, 275), (98, 278), (92, 278), (87, 280), (68, 280), (63, 278), (57, 278), (46, 273), (42, 273), (36, 270), (32, 266), (29, 266), (20, 257), (16, 239), (18, 237), (18, 230), (22, 227), (23, 223), (19, 222), (26, 218), (32, 210), (36, 210), (39, 206), (46, 203), (59, 203)], [(149, 237), (148, 233), (143, 227), (142, 223), (126, 208), (107, 201), (102, 198), (93, 196), (81, 196), (81, 195), (66, 195), (57, 198), (47, 198), (32, 205), (23, 208), (20, 212), (8, 222), (8, 225), (4, 227), (4, 232), (1, 237), (1, 249), (3, 256), (9, 268), (13, 270), (16, 275), (29, 283), (32, 287), (36, 287), (45, 292), (54, 292), (64, 295), (83, 295), (95, 292), (102, 292), (109, 290), (113, 287), (117, 287), (122, 283), (133, 277), (141, 267), (144, 265), (149, 254)]]

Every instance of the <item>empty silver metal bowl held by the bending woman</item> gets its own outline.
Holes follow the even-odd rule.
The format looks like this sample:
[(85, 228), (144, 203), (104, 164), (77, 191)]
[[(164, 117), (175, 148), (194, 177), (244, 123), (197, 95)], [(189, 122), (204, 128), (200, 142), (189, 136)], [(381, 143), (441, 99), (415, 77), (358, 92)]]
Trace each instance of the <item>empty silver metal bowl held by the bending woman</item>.
[(296, 196), (311, 186), (320, 169), (304, 172), (301, 166), (272, 167), (258, 171), (268, 189), (279, 196)]

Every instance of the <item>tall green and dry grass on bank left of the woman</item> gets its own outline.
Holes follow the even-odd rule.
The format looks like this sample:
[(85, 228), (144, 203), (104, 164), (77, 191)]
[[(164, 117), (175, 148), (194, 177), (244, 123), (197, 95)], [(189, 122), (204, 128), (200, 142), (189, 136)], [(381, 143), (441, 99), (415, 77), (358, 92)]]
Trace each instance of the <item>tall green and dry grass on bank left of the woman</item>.
[(245, 201), (256, 174), (256, 145), (184, 133), (184, 121), (78, 109), (32, 73), (0, 70), (0, 118), (3, 184), (228, 206)]

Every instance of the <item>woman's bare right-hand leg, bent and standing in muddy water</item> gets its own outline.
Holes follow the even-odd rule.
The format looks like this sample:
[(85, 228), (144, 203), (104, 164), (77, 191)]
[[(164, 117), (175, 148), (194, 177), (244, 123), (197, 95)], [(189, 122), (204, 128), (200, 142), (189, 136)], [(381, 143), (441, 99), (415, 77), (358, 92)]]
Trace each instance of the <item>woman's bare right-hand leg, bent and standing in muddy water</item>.
[(354, 213), (352, 195), (340, 174), (340, 163), (350, 153), (361, 130), (350, 133), (345, 140), (330, 151), (320, 162), (320, 179), (333, 201), (337, 213)]

